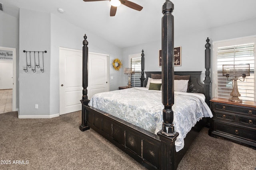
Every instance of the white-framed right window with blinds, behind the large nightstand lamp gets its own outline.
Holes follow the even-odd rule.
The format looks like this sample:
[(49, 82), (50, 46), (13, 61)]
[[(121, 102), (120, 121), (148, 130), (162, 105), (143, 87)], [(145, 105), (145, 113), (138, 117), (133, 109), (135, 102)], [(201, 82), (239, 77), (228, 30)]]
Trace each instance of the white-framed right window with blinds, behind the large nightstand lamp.
[[(231, 97), (230, 93), (233, 89), (233, 81), (228, 81), (226, 76), (222, 75), (223, 64), (250, 64), (250, 76), (246, 76), (244, 81), (240, 81), (243, 80), (243, 78), (240, 77), (240, 80), (237, 80), (237, 84), (238, 91), (241, 94), (241, 96), (239, 97), (240, 99), (255, 101), (255, 42), (256, 37), (214, 43), (214, 96), (220, 98)], [(232, 77), (230, 77), (229, 80), (231, 78)]]

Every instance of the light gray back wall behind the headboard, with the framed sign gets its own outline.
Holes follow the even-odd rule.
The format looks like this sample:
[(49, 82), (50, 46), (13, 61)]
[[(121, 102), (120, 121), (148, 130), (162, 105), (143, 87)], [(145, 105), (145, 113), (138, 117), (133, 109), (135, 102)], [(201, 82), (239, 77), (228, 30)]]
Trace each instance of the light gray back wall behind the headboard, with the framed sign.
[[(182, 47), (182, 64), (175, 66), (174, 71), (202, 71), (201, 78), (204, 80), (204, 45), (207, 37), (212, 43), (212, 41), (249, 35), (256, 35), (256, 18), (184, 35), (175, 35), (174, 30), (174, 47)], [(158, 50), (161, 46), (161, 41), (154, 41), (124, 48), (122, 50), (123, 63), (128, 66), (128, 55), (139, 53), (144, 49), (145, 71), (161, 71), (161, 67), (158, 67)], [(126, 77), (122, 76), (122, 80), (126, 81)]]

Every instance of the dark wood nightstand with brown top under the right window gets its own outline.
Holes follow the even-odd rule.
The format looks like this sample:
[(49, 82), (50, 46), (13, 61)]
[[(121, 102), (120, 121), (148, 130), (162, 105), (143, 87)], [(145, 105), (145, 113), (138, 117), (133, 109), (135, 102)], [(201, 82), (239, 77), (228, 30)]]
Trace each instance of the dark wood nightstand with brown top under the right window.
[(256, 149), (256, 102), (212, 98), (209, 135)]

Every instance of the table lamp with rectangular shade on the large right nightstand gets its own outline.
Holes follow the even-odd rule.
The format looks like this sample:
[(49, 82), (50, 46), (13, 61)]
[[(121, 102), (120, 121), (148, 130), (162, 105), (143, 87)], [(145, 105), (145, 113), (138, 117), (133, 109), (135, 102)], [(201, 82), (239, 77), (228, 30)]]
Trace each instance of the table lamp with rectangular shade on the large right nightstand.
[[(230, 93), (232, 97), (229, 98), (229, 101), (242, 102), (242, 99), (238, 98), (241, 94), (238, 92), (237, 80), (240, 80), (238, 77), (245, 78), (246, 76), (250, 76), (250, 64), (224, 64), (222, 65), (222, 75), (226, 76), (227, 80), (229, 77), (234, 77), (228, 80), (234, 80), (233, 90)], [(240, 81), (243, 82), (244, 80)]]

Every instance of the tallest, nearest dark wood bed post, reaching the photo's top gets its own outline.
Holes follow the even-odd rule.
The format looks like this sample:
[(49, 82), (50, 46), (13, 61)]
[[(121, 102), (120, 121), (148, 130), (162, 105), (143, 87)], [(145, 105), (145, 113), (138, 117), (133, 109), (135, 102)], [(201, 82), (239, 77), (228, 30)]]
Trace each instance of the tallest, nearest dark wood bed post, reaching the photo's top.
[(162, 6), (162, 103), (163, 124), (162, 130), (157, 133), (161, 140), (161, 169), (174, 170), (174, 152), (178, 133), (174, 130), (174, 4), (166, 0)]

